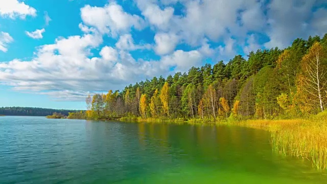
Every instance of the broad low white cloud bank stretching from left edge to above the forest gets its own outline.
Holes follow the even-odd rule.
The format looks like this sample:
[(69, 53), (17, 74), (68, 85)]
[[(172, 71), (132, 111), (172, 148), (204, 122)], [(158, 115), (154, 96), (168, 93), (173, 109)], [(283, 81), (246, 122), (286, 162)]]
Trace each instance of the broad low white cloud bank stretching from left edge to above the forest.
[(58, 38), (54, 44), (39, 47), (30, 61), (15, 59), (0, 63), (0, 79), (14, 90), (82, 100), (85, 91), (120, 89), (130, 82), (168, 74), (170, 67), (186, 71), (199, 65), (203, 58), (198, 50), (178, 50), (156, 61), (135, 60), (129, 52), (109, 46), (101, 49), (100, 57), (91, 57), (90, 50), (102, 42), (99, 34)]

